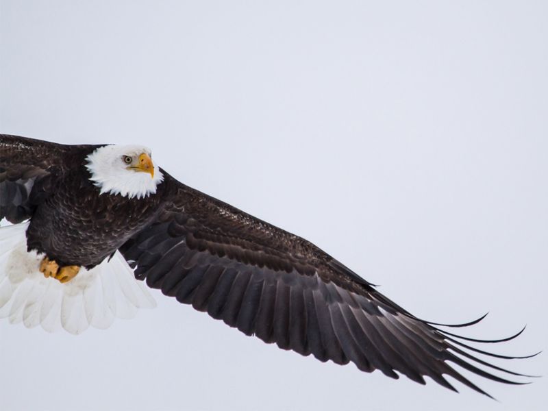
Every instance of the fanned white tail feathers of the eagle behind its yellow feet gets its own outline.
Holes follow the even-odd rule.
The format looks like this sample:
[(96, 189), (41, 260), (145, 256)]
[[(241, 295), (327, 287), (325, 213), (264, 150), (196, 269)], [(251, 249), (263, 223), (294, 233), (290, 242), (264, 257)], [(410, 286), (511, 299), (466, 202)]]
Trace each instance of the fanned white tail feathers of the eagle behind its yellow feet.
[(108, 328), (116, 317), (131, 319), (138, 308), (155, 307), (119, 251), (89, 271), (80, 269), (65, 284), (44, 277), (38, 270), (43, 256), (27, 252), (27, 227), (0, 227), (0, 319), (81, 334), (90, 325)]

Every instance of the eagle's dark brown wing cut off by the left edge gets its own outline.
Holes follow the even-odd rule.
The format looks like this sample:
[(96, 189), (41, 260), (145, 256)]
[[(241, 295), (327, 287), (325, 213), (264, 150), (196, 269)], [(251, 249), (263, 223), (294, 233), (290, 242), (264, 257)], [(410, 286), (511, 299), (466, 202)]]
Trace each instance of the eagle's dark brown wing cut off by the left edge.
[(0, 134), (0, 220), (21, 223), (49, 195), (51, 178), (66, 169), (66, 155), (75, 148)]

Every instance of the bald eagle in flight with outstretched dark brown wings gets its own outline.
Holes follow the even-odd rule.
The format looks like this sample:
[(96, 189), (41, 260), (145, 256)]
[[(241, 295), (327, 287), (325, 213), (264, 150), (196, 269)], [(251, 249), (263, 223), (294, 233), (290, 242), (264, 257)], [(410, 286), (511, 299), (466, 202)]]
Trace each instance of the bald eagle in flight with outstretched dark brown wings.
[[(0, 316), (79, 334), (154, 305), (147, 288), (265, 343), (366, 372), (425, 376), (451, 390), (449, 363), (500, 356), (424, 321), (299, 236), (190, 188), (146, 147), (60, 145), (0, 135)], [(530, 357), (530, 356), (528, 356)], [(488, 395), (488, 394), (486, 394)]]

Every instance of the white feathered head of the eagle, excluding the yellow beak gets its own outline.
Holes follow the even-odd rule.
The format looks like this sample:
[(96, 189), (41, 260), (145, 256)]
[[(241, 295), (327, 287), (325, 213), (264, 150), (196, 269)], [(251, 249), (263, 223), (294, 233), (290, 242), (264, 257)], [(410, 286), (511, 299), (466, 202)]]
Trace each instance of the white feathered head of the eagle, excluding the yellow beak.
[(99, 147), (86, 158), (86, 168), (91, 173), (90, 180), (101, 189), (101, 194), (108, 192), (130, 199), (155, 194), (156, 187), (164, 179), (158, 166), (153, 165), (153, 173), (141, 173), (136, 167), (131, 167), (132, 163), (128, 160), (131, 158), (136, 162), (142, 154), (150, 157), (151, 150), (140, 145)]

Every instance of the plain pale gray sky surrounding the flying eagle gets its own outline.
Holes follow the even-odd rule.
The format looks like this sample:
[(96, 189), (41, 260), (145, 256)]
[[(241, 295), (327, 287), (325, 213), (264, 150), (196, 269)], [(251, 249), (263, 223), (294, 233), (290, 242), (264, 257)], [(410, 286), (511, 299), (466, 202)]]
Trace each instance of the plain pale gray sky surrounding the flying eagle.
[[(543, 1), (0, 1), (0, 130), (139, 142), (416, 315), (547, 348)], [(0, 322), (1, 410), (540, 410), (265, 345), (155, 293), (107, 332)], [(493, 347), (490, 347), (493, 348)], [(505, 365), (546, 374), (547, 355)]]

